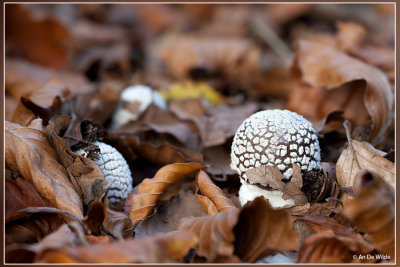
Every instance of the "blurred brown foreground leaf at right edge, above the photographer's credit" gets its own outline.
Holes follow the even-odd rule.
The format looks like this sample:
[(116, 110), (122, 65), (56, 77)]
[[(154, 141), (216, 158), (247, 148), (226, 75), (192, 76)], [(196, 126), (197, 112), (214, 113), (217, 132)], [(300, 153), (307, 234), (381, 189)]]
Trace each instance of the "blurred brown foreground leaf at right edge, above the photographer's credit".
[(394, 190), (382, 176), (361, 170), (354, 180), (355, 197), (345, 202), (343, 215), (366, 232), (376, 248), (394, 260)]

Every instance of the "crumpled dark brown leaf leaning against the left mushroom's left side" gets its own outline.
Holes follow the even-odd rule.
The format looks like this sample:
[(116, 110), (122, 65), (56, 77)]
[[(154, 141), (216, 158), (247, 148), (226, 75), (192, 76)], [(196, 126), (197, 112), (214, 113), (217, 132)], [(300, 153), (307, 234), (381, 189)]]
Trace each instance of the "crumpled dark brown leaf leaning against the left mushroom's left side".
[(75, 191), (82, 197), (84, 207), (101, 200), (110, 186), (104, 180), (103, 171), (92, 160), (73, 153), (66, 141), (59, 136), (71, 123), (69, 116), (54, 116), (45, 128), (49, 143), (57, 152), (59, 162), (68, 172)]

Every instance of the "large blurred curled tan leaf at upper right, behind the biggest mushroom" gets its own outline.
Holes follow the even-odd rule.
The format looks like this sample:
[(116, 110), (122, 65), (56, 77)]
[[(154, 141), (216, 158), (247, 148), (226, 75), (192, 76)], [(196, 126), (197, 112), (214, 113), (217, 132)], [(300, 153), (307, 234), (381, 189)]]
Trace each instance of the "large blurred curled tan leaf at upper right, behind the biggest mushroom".
[[(321, 91), (321, 89), (325, 89), (329, 92), (332, 89), (343, 86), (347, 86), (347, 90), (353, 92), (361, 91), (355, 88), (365, 89), (363, 97), (364, 105), (373, 123), (370, 140), (372, 143), (381, 142), (388, 127), (392, 123), (394, 109), (394, 96), (387, 77), (380, 70), (362, 61), (354, 59), (332, 47), (315, 42), (298, 42), (296, 46), (296, 56), (294, 70), (300, 75), (302, 81), (314, 87), (313, 89), (308, 88), (306, 90)], [(338, 89), (334, 91), (337, 90)], [(347, 90), (345, 90), (345, 92)], [(332, 91), (332, 93), (334, 91)], [(339, 94), (335, 94), (335, 96), (338, 98), (330, 99), (328, 102), (331, 103), (333, 101), (332, 105), (334, 106), (340, 103), (348, 104), (344, 101), (346, 98), (351, 100), (356, 97), (351, 94), (349, 95), (349, 93), (342, 97), (339, 97)], [(324, 97), (326, 97), (326, 95)], [(328, 110), (329, 106), (324, 107), (324, 105), (327, 105), (326, 99), (323, 99), (324, 101), (321, 102), (315, 98), (309, 99), (312, 99), (312, 103), (310, 103), (310, 101), (307, 102), (310, 103), (312, 107), (323, 107), (322, 110), (326, 110), (324, 114), (312, 114), (314, 116), (319, 115), (320, 118), (322, 118), (329, 111), (334, 110)], [(298, 111), (296, 103), (289, 101), (288, 106), (292, 110)], [(354, 105), (352, 107), (352, 109), (354, 109), (353, 113), (346, 115), (346, 112), (350, 112), (350, 105), (347, 106), (348, 108), (345, 109), (340, 107), (336, 107), (335, 109), (345, 110), (345, 117), (356, 121), (357, 119), (359, 120), (360, 106)], [(313, 110), (313, 108), (311, 108), (311, 110)], [(310, 111), (306, 111), (306, 113), (307, 112), (309, 113)]]

